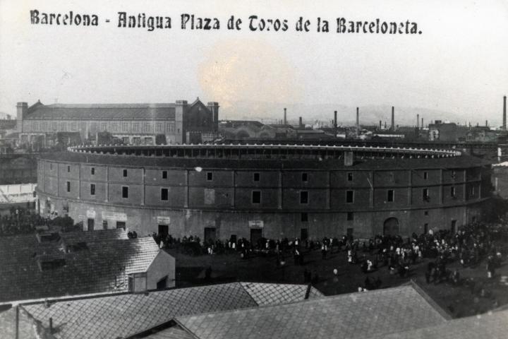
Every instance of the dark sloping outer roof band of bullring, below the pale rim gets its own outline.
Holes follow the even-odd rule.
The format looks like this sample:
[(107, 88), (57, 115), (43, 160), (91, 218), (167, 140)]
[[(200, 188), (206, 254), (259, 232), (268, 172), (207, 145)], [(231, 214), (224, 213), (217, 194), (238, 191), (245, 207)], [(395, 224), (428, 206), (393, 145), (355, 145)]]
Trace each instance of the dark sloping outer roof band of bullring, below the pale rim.
[(488, 165), (478, 157), (461, 155), (459, 157), (421, 158), (421, 159), (365, 159), (345, 166), (344, 160), (282, 160), (282, 159), (210, 159), (183, 157), (143, 157), (139, 155), (107, 155), (78, 152), (45, 153), (40, 156), (44, 160), (87, 162), (96, 165), (118, 165), (139, 167), (175, 167), (175, 168), (251, 168), (251, 169), (432, 169), (432, 168), (467, 168)]

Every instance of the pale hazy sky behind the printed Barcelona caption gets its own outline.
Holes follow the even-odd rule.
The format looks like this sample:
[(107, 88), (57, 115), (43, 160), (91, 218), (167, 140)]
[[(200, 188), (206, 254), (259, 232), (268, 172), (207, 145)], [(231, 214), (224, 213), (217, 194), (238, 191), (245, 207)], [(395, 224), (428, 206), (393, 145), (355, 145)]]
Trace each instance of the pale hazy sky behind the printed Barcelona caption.
[[(32, 25), (34, 9), (96, 14), (99, 25)], [(118, 28), (119, 11), (169, 16), (172, 28)], [(220, 29), (181, 30), (182, 13), (218, 18)], [(251, 31), (251, 15), (285, 19), (288, 29)], [(231, 16), (241, 30), (226, 28)], [(310, 32), (296, 32), (299, 17)], [(317, 32), (318, 17), (329, 32)], [(422, 34), (339, 34), (337, 18), (409, 20)], [(507, 60), (506, 0), (0, 0), (0, 112), (12, 115), (22, 101), (200, 97), (219, 102), (228, 119), (244, 117), (237, 103), (252, 101), (419, 107), (501, 124)]]

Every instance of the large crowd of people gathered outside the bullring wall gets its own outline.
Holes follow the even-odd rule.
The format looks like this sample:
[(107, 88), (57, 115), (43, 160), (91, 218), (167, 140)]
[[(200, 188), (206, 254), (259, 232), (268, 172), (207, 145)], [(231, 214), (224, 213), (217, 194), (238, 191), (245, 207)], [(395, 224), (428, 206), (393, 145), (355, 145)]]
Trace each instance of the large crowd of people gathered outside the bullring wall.
[[(439, 284), (447, 281), (454, 285), (463, 283), (458, 269), (450, 270), (449, 264), (458, 262), (461, 266), (476, 266), (486, 259), (488, 278), (495, 275), (495, 269), (502, 261), (502, 243), (495, 242), (488, 225), (474, 223), (461, 227), (457, 232), (450, 230), (432, 230), (425, 234), (412, 234), (411, 237), (381, 236), (372, 239), (353, 239), (352, 237), (324, 237), (322, 239), (265, 239), (260, 238), (254, 244), (245, 238), (202, 242), (199, 237), (189, 236), (175, 239), (170, 234), (153, 234), (161, 248), (178, 248), (186, 254), (232, 254), (239, 253), (241, 258), (250, 256), (273, 255), (277, 267), (286, 265), (293, 256), (295, 266), (305, 266), (305, 257), (311, 251), (319, 250), (322, 260), (329, 254), (344, 255), (347, 263), (356, 265), (365, 273), (362, 290), (379, 288), (379, 278), (369, 278), (369, 274), (387, 269), (390, 275), (406, 278), (411, 267), (430, 259), (425, 270), (427, 283)], [(304, 270), (305, 283), (319, 281), (317, 273)]]

